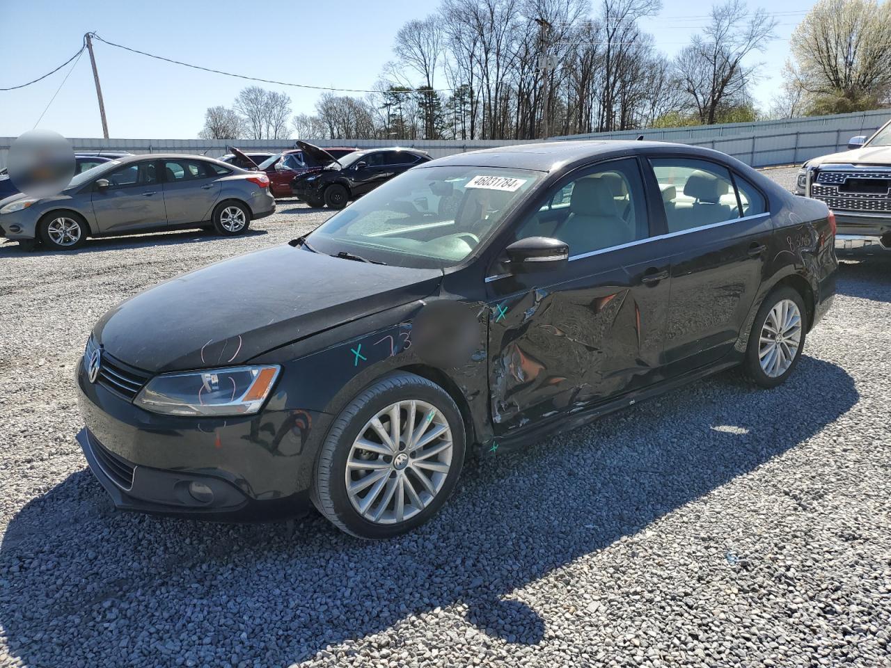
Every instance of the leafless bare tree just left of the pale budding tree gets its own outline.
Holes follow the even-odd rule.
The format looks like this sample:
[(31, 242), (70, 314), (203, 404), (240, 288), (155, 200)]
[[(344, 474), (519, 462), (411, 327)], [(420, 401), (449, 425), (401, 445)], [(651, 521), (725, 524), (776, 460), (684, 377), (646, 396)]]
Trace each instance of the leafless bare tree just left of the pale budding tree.
[(722, 105), (747, 101), (757, 65), (745, 65), (743, 60), (764, 50), (775, 38), (775, 27), (776, 20), (764, 9), (749, 12), (742, 0), (712, 7), (704, 34), (693, 37), (674, 61), (676, 77), (701, 123), (715, 123)]

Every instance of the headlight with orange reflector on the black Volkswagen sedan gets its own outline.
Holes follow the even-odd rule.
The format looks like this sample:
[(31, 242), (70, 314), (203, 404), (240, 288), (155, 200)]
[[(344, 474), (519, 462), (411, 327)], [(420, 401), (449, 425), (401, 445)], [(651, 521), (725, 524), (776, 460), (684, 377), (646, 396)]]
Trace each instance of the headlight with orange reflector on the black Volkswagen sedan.
[(250, 415), (266, 402), (281, 369), (274, 364), (165, 373), (151, 379), (134, 403), (165, 415)]

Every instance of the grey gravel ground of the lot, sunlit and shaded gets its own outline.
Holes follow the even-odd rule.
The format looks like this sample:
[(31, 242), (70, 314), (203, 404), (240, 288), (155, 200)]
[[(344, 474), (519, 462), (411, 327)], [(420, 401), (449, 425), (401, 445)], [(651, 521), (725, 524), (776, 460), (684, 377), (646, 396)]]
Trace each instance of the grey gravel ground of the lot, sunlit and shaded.
[(720, 374), (486, 458), (397, 540), (116, 512), (74, 441), (88, 331), (326, 216), (279, 210), (0, 248), (0, 666), (891, 666), (891, 254), (846, 257), (783, 387)]

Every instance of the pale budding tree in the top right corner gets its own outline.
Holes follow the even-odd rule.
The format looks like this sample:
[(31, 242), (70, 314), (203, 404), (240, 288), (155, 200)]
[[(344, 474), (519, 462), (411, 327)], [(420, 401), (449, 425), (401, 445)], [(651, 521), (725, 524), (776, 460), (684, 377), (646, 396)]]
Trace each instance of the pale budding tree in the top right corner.
[(891, 3), (820, 0), (789, 42), (787, 85), (808, 111), (874, 109), (891, 92)]

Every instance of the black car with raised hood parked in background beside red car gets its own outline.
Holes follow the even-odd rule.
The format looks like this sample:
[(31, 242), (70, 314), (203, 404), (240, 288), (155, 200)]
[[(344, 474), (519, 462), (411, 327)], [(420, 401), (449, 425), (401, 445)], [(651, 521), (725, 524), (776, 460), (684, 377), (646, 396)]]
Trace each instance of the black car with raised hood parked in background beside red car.
[[(325, 153), (311, 144), (298, 142), (298, 146), (310, 155)], [(327, 167), (320, 172), (296, 176), (290, 182), (290, 189), (310, 207), (344, 208), (349, 200), (429, 160), (427, 153), (413, 149), (367, 149), (339, 159), (329, 156)]]

